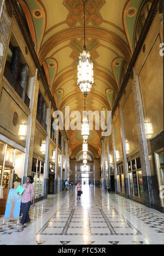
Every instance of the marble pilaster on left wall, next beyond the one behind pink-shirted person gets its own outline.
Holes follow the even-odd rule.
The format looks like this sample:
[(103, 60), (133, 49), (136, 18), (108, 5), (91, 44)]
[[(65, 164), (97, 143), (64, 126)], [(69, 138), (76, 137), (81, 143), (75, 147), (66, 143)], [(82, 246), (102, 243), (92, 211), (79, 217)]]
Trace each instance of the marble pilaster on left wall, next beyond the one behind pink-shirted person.
[(49, 178), (49, 146), (50, 146), (50, 135), (51, 135), (51, 101), (50, 106), (47, 109), (46, 123), (47, 123), (47, 132), (46, 136), (46, 146), (45, 146), (45, 164), (44, 164), (44, 195), (46, 198), (48, 194), (48, 178)]

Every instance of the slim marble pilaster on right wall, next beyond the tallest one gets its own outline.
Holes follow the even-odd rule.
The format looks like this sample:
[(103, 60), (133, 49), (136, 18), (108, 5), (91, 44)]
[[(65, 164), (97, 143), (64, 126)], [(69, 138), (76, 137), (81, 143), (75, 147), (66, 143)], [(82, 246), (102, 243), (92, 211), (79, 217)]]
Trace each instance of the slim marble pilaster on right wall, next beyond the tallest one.
[(122, 162), (124, 168), (124, 185), (125, 185), (125, 194), (127, 198), (130, 198), (130, 192), (128, 187), (128, 170), (127, 170), (127, 157), (126, 157), (126, 138), (125, 138), (125, 128), (124, 128), (124, 116), (122, 113), (122, 107), (120, 105), (120, 123), (121, 123), (121, 144), (122, 144)]

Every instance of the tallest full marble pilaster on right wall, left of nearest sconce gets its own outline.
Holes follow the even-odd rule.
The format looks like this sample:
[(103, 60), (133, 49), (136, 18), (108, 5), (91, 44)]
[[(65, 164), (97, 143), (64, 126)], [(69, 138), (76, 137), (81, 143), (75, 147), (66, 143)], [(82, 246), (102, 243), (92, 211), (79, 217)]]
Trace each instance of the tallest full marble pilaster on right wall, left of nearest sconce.
[(140, 163), (142, 167), (144, 202), (145, 206), (154, 208), (153, 186), (151, 182), (150, 164), (148, 155), (147, 137), (144, 125), (144, 112), (142, 104), (142, 96), (139, 88), (139, 79), (133, 68), (134, 79), (132, 81), (132, 93), (134, 100), (134, 110), (137, 122), (137, 132), (140, 151)]

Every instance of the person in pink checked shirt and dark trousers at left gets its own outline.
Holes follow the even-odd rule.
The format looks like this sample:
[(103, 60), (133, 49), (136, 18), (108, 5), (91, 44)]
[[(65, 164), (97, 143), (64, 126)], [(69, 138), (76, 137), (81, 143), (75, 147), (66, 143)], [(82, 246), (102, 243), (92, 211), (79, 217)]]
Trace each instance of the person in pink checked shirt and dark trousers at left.
[[(32, 183), (33, 183), (33, 177), (27, 176), (26, 183), (22, 185), (22, 187), (24, 187), (25, 190), (22, 193), (21, 206), (20, 206), (21, 213), (23, 214), (22, 219), (20, 221), (21, 223), (20, 231), (24, 229), (25, 223), (27, 223), (27, 226), (30, 225), (30, 217), (29, 217), (28, 211), (30, 209), (31, 202), (33, 202), (32, 205), (34, 207), (34, 186), (32, 185)], [(17, 194), (19, 194), (19, 192)]]

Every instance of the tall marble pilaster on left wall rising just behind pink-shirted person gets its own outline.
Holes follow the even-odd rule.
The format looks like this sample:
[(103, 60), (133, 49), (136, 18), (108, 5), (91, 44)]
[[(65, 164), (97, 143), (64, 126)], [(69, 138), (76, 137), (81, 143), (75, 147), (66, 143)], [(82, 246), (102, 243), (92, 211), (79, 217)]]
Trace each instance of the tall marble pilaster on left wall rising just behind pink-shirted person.
[(26, 156), (25, 156), (25, 169), (24, 179), (27, 175), (31, 175), (32, 170), (32, 159), (33, 159), (33, 146), (34, 146), (34, 135), (36, 127), (36, 116), (37, 116), (37, 104), (38, 104), (38, 93), (39, 93), (39, 81), (36, 76), (33, 78), (32, 98), (31, 98), (31, 114), (28, 117), (27, 124), (27, 139), (26, 139)]

